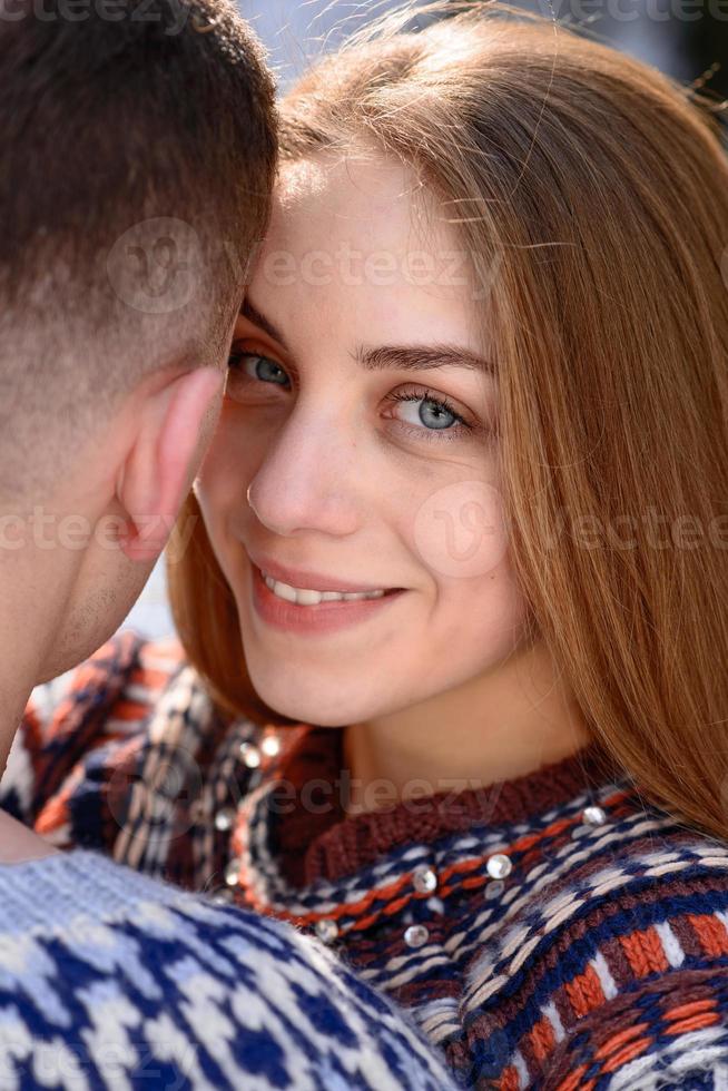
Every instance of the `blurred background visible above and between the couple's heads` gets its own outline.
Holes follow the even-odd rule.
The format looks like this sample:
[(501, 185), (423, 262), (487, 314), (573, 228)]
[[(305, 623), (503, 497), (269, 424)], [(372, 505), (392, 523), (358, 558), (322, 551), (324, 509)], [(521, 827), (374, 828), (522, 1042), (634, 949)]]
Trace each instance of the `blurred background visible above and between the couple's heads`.
[[(269, 50), (284, 90), (323, 50), (394, 7), (400, 0), (239, 0), (242, 13)], [(417, 7), (422, 4), (412, 3)], [(523, 0), (519, 7), (583, 28), (590, 37), (701, 89), (716, 102), (728, 97), (728, 0)], [(161, 563), (127, 627), (153, 638), (174, 631)]]

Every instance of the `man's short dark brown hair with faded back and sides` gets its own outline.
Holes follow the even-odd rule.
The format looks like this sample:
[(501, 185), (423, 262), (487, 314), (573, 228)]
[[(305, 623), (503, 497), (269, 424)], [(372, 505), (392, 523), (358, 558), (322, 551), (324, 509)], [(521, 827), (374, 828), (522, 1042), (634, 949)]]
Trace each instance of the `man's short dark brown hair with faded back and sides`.
[(12, 494), (38, 430), (78, 444), (147, 371), (219, 358), (277, 146), (263, 53), (226, 0), (0, 0), (0, 88)]

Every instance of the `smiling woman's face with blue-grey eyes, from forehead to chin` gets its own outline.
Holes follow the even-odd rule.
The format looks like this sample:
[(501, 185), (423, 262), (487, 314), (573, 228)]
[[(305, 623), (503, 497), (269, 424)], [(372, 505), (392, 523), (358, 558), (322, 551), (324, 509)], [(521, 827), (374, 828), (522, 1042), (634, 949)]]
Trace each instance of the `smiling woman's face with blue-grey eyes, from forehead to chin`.
[(391, 715), (520, 642), (468, 269), (402, 166), (284, 169), (196, 490), (252, 681), (285, 716)]

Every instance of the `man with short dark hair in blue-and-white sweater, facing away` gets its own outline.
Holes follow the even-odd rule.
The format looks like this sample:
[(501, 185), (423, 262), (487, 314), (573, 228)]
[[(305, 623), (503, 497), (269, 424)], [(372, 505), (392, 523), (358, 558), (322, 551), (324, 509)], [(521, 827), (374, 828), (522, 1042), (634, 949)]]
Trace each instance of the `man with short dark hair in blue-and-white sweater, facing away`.
[[(189, 489), (276, 138), (225, 0), (0, 16), (4, 767), (31, 688), (116, 629)], [(0, 1085), (449, 1082), (315, 941), (0, 815)]]

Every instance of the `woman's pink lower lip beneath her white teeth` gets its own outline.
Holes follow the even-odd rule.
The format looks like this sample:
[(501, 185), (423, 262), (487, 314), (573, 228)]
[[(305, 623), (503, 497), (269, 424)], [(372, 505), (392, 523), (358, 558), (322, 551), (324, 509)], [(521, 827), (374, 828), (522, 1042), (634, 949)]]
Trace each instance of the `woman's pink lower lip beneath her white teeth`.
[(404, 594), (403, 589), (386, 591), (376, 599), (341, 600), (301, 606), (278, 598), (263, 578), (260, 569), (250, 564), (253, 573), (253, 605), (258, 616), (268, 625), (287, 632), (332, 632), (372, 617), (378, 610)]

